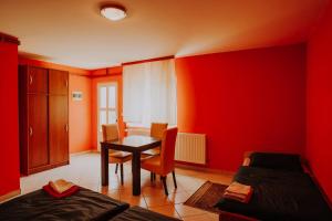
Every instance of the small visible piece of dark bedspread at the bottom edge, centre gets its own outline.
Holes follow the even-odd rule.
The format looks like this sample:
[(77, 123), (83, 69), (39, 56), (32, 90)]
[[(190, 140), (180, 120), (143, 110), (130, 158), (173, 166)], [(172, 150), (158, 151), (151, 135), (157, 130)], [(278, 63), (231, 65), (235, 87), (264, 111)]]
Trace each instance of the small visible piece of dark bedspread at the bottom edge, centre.
[(110, 221), (179, 221), (139, 207), (132, 207)]

